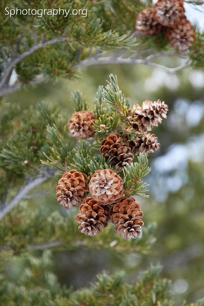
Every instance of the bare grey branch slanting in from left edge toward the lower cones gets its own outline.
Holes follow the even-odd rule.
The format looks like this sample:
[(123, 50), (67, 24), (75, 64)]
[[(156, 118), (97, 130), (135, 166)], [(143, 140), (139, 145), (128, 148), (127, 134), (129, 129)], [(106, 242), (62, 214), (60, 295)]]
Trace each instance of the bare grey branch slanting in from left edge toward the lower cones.
[(47, 181), (51, 177), (55, 175), (55, 171), (47, 173), (44, 176), (38, 176), (32, 182), (27, 183), (21, 190), (17, 193), (17, 195), (11, 200), (11, 202), (6, 205), (6, 207), (0, 212), (0, 220), (2, 220), (8, 213), (10, 213), (19, 203), (23, 200), (28, 192), (41, 185), (43, 182)]

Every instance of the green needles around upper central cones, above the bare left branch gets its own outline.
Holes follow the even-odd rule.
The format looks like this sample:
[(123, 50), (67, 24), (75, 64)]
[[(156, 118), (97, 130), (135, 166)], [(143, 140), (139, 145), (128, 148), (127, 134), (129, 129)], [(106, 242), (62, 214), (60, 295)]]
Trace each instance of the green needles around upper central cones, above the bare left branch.
[[(122, 94), (113, 75), (110, 75), (110, 82), (105, 89), (99, 87), (94, 99), (97, 119), (94, 125), (96, 127), (95, 137), (90, 140), (80, 140), (77, 146), (75, 139), (69, 136), (66, 116), (61, 114), (56, 106), (42, 102), (37, 105), (37, 111), (33, 108), (23, 111), (15, 120), (10, 118), (12, 109), (7, 108), (2, 121), (5, 120), (5, 117), (10, 118), (9, 126), (12, 133), (5, 136), (4, 143), (2, 143), (0, 165), (8, 177), (13, 176), (13, 187), (15, 184), (19, 184), (19, 176), (21, 179), (24, 177), (24, 181), (26, 181), (28, 173), (35, 177), (41, 173), (42, 169), (46, 171), (41, 163), (47, 167), (55, 168), (58, 174), (74, 168), (84, 172), (89, 178), (98, 169), (112, 168), (109, 160), (105, 161), (103, 156), (98, 155), (97, 149), (100, 147), (102, 137), (104, 138), (110, 133), (121, 133), (124, 126), (128, 124), (126, 118), (129, 100)], [(75, 92), (75, 95), (71, 95), (71, 99), (74, 101), (76, 110), (81, 110), (81, 107), (86, 108), (81, 93)], [(104, 110), (106, 110), (105, 114)], [(115, 124), (112, 124), (113, 122)], [(104, 125), (103, 129), (101, 129), (101, 124)], [(23, 146), (21, 146), (21, 142), (23, 142)], [(150, 171), (147, 163), (147, 158), (140, 156), (139, 163), (128, 168), (129, 174), (126, 173), (124, 178), (128, 190), (132, 188), (132, 184), (135, 184), (131, 194), (137, 194), (139, 190), (144, 188), (141, 186), (141, 177)], [(132, 180), (134, 175), (137, 177), (137, 182)], [(5, 186), (2, 191), (5, 193), (4, 196), (6, 196), (6, 190)]]

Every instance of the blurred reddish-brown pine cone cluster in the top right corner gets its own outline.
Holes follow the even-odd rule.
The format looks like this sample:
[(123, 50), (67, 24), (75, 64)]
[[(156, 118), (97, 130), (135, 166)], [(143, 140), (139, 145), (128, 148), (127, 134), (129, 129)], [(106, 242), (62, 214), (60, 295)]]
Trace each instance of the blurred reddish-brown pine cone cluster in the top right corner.
[(183, 0), (158, 0), (153, 8), (140, 12), (136, 29), (143, 36), (164, 33), (172, 47), (185, 51), (195, 40), (191, 22), (186, 18)]

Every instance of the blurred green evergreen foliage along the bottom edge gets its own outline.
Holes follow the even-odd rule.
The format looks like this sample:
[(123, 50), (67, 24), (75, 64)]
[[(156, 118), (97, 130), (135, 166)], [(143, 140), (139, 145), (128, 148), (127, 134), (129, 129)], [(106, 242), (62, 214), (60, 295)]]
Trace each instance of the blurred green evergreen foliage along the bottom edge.
[[(2, 257), (2, 256), (1, 256)], [(8, 265), (7, 258), (2, 258)], [(150, 266), (146, 271), (140, 273), (136, 284), (127, 284), (126, 275), (123, 272), (110, 276), (103, 272), (97, 276), (97, 281), (91, 284), (90, 289), (73, 291), (62, 287), (52, 272), (51, 252), (46, 250), (42, 256), (30, 256), (29, 259), (16, 257), (12, 264), (21, 264), (18, 281), (15, 283), (12, 274), (8, 282), (5, 282), (5, 274), (0, 279), (0, 301), (2, 305), (164, 305), (174, 304), (171, 294), (171, 282), (161, 278), (162, 267)], [(49, 270), (49, 272), (48, 272)], [(203, 306), (200, 300), (191, 306)], [(190, 306), (189, 305), (189, 306)], [(183, 303), (183, 306), (188, 306)]]

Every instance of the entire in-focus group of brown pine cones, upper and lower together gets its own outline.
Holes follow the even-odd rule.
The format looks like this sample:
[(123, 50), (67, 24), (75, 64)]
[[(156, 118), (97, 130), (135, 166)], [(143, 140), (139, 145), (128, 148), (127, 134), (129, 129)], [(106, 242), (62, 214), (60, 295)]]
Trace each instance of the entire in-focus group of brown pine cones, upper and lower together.
[[(168, 106), (161, 100), (146, 100), (141, 107), (135, 104), (124, 119), (124, 133), (111, 134), (102, 141), (101, 153), (105, 160), (120, 171), (131, 164), (133, 154), (142, 152), (149, 155), (156, 151), (160, 144), (155, 134), (148, 131), (166, 118), (167, 111)], [(89, 111), (77, 112), (68, 122), (70, 134), (80, 139), (93, 137), (95, 120), (94, 114)], [(136, 132), (138, 137), (129, 140), (127, 130)], [(88, 196), (88, 192), (91, 196)], [(80, 223), (78, 230), (92, 237), (101, 233), (109, 220), (124, 239), (140, 236), (143, 213), (136, 200), (125, 197), (125, 194), (122, 177), (111, 169), (97, 170), (90, 182), (85, 173), (71, 170), (63, 174), (56, 187), (58, 203), (67, 209), (79, 207), (80, 213), (76, 217)]]

